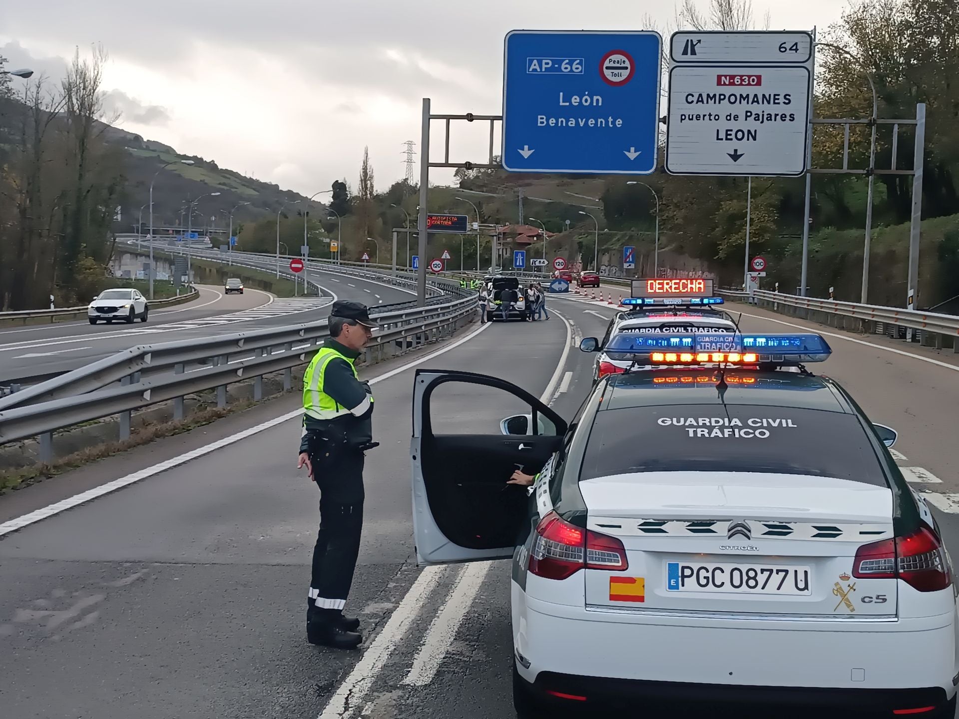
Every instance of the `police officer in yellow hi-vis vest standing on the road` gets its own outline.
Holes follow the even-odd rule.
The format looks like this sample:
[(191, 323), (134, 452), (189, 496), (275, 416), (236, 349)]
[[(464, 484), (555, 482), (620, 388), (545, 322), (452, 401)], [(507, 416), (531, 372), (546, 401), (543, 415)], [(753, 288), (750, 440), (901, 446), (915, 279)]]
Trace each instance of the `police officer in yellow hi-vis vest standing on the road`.
[(319, 532), (307, 610), (311, 643), (352, 649), (360, 620), (343, 615), (363, 530), (363, 458), (373, 442), (373, 393), (354, 366), (376, 326), (359, 302), (333, 303), (330, 336), (303, 377), (299, 464), (319, 489)]

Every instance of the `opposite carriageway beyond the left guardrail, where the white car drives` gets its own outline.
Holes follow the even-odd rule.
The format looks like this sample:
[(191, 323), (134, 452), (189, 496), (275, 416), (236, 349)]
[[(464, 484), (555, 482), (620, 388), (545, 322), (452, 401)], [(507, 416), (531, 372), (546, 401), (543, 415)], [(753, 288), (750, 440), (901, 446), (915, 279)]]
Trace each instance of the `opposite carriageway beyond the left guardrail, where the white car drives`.
[[(369, 306), (406, 302), (413, 293), (336, 272), (310, 271), (323, 293), (275, 297), (263, 290), (223, 294), (222, 287), (200, 287), (198, 299), (169, 310), (152, 310), (146, 323), (90, 325), (63, 322), (0, 330), (0, 382), (66, 372), (140, 344), (199, 339), (301, 322), (329, 313), (335, 299)], [(118, 287), (123, 280), (118, 279)]]

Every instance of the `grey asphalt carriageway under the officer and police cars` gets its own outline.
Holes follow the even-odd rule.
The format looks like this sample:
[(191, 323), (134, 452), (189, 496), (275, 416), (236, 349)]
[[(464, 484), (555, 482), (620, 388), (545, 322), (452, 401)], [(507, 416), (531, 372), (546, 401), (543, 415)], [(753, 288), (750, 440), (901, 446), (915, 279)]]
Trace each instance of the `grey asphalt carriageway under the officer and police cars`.
[[(615, 308), (550, 296), (548, 309), (550, 321), (474, 325), (363, 371), (381, 446), (367, 453), (363, 546), (347, 603), (363, 619), (359, 651), (304, 637), (317, 493), (295, 470), (295, 395), (0, 498), (0, 524), (30, 521), (0, 537), (5, 716), (512, 717), (508, 563), (421, 570), (412, 560), (410, 394), (417, 366), (461, 369), (518, 383), (572, 416), (593, 361), (575, 345), (602, 336)], [(900, 431), (898, 461), (939, 508), (947, 544), (959, 546), (959, 362), (727, 309), (741, 310), (744, 331), (827, 336), (834, 354), (822, 371)], [(488, 433), (511, 410), (482, 395), (436, 409), (457, 430)], [(40, 517), (124, 477), (123, 489)]]

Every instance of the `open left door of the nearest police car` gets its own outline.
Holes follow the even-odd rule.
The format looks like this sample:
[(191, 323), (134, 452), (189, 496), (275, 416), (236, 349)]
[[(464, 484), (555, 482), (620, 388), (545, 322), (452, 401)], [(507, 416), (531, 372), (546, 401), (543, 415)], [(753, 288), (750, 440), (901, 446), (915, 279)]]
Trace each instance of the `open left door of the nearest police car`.
[(517, 469), (538, 473), (562, 448), (566, 422), (495, 377), (421, 369), (414, 383), (417, 564), (511, 557), (532, 503), (526, 487), (506, 482)]

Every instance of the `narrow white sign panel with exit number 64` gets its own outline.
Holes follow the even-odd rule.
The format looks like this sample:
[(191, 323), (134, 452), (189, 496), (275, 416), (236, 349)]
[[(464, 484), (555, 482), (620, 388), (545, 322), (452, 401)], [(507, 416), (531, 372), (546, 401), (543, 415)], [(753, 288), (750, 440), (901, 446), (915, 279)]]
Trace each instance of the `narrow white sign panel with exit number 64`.
[(672, 35), (673, 62), (797, 64), (812, 58), (812, 35), (791, 32), (696, 33)]

